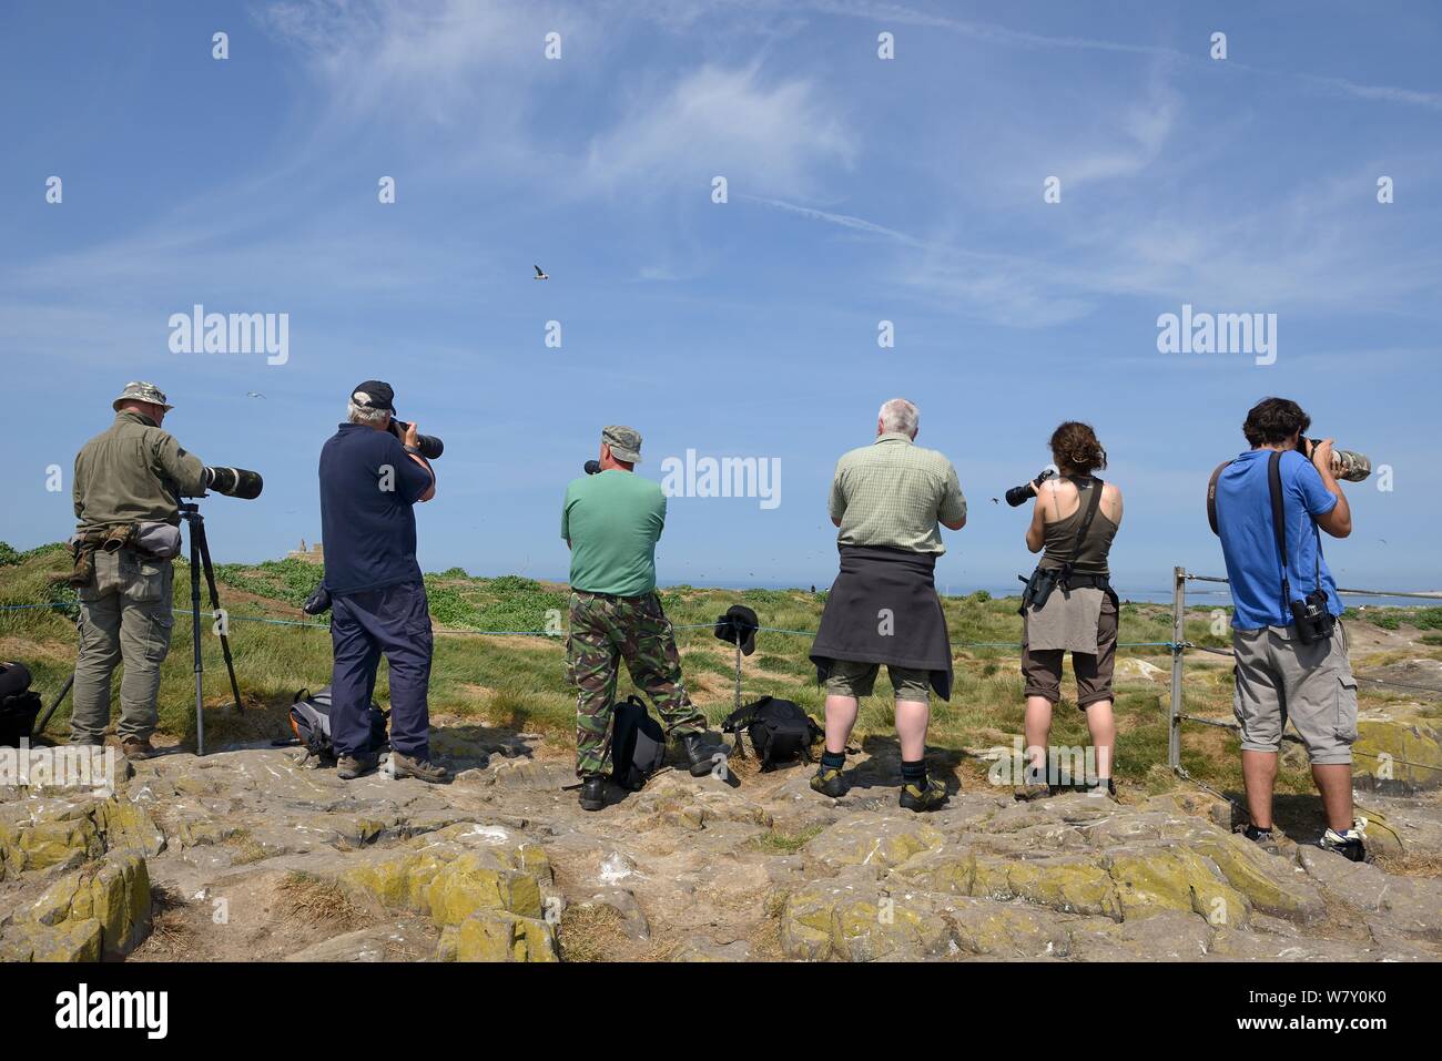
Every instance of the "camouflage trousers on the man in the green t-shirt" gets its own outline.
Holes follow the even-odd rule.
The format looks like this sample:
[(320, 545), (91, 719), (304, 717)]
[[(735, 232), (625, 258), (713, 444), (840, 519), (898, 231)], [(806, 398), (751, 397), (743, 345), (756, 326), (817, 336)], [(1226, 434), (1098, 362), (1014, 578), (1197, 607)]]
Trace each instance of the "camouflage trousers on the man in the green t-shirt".
[(575, 698), (575, 774), (604, 774), (611, 755), (611, 706), (617, 665), (626, 660), (632, 680), (660, 712), (673, 737), (704, 732), (705, 715), (681, 683), (681, 653), (660, 600), (571, 594), (571, 636), (565, 643), (567, 680)]

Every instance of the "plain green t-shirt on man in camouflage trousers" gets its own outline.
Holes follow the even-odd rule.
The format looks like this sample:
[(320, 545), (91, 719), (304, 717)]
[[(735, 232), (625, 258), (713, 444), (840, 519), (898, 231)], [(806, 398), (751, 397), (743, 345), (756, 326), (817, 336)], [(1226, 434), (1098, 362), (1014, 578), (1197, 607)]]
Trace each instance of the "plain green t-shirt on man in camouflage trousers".
[(660, 486), (609, 469), (571, 480), (561, 538), (571, 543), (571, 588), (640, 597), (656, 588), (656, 539), (666, 526)]

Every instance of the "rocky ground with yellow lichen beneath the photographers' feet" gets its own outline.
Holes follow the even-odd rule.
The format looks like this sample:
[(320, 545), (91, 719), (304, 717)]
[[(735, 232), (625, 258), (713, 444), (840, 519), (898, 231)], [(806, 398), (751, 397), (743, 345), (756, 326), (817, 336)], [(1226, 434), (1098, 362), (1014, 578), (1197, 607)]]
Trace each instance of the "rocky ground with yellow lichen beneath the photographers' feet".
[(345, 783), (254, 745), (137, 763), (112, 794), (3, 791), (0, 957), (1442, 957), (1436, 793), (1366, 793), (1379, 859), (1354, 865), (1265, 853), (1191, 789), (1022, 804), (968, 774), (917, 816), (884, 754), (836, 803), (803, 767), (743, 761), (585, 814), (536, 738), (438, 740), (447, 786)]

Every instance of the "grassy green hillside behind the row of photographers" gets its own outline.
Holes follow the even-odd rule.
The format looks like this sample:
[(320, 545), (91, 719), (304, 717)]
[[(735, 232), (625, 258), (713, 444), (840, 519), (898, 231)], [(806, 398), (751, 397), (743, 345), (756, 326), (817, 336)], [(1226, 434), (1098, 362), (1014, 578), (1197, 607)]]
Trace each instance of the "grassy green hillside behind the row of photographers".
[[(69, 556), (61, 546), (43, 546), (17, 554), (0, 543), (0, 605), (74, 601), (65, 584)], [(231, 644), (247, 711), (236, 715), (219, 708), (229, 702), (219, 639), (203, 623), (206, 732), (212, 741), (228, 735), (278, 735), (284, 729), (284, 708), (301, 688), (329, 682), (330, 637), (323, 624), (283, 626), (257, 618), (314, 624), (300, 611), (300, 603), (320, 580), (320, 568), (287, 559), (260, 565), (222, 565), (216, 569), (221, 603), (232, 617)], [(564, 637), (496, 636), (482, 631), (542, 631), (564, 624), (567, 588), (526, 578), (470, 578), (454, 568), (425, 577), (431, 614), (437, 626), (431, 680), (431, 711), (444, 728), (447, 719), (547, 734), (558, 753), (571, 747), (574, 693), (565, 685)], [(164, 665), (160, 695), (162, 729), (182, 741), (193, 740), (193, 673), (189, 618), (189, 569), (176, 564), (174, 639)], [(202, 600), (208, 603), (203, 595)], [(662, 600), (678, 627), (709, 624), (737, 601), (753, 607), (761, 623), (782, 630), (816, 629), (825, 594), (800, 590), (699, 590), (676, 585), (663, 590)], [(937, 754), (965, 748), (1011, 744), (1021, 732), (1022, 696), (1018, 650), (992, 647), (1019, 640), (1021, 618), (1017, 598), (991, 600), (985, 592), (943, 603), (956, 650), (956, 683), (950, 703), (933, 708), (932, 742)], [(27, 608), (0, 611), (0, 659), (25, 660), (36, 673), (36, 685), (49, 701), (75, 662), (74, 608)], [(208, 616), (208, 610), (202, 613)], [(1211, 611), (1197, 608), (1188, 616), (1187, 636), (1198, 644), (1224, 646), (1211, 633)], [(1383, 624), (1410, 621), (1436, 629), (1442, 608), (1416, 614), (1387, 613)], [(1120, 640), (1167, 642), (1171, 636), (1169, 608), (1155, 604), (1123, 604)], [(712, 721), (733, 703), (734, 653), (715, 640), (709, 629), (678, 630), (686, 683), (695, 702)], [(822, 712), (822, 693), (815, 669), (806, 659), (810, 639), (803, 634), (763, 631), (757, 652), (744, 662), (744, 695), (753, 699), (773, 693), (795, 699), (815, 715)], [(1151, 787), (1169, 786), (1162, 768), (1167, 751), (1167, 696), (1171, 659), (1165, 647), (1123, 649), (1118, 656), (1118, 724), (1120, 750), (1118, 776)], [(1158, 667), (1159, 670), (1152, 670)], [(878, 689), (890, 686), (883, 678)], [(622, 679), (620, 695), (630, 692)], [(1074, 709), (1074, 686), (1067, 673), (1066, 699), (1056, 715), (1056, 744), (1086, 744), (1086, 725)], [(1220, 656), (1190, 653), (1187, 657), (1187, 709), (1191, 714), (1230, 716), (1231, 670)], [(378, 699), (386, 701), (386, 672), (382, 666)], [(1377, 699), (1386, 693), (1367, 691)], [(63, 735), (66, 708), (52, 721), (49, 734)], [(891, 732), (890, 696), (874, 696), (862, 705), (857, 742), (885, 740)], [(1184, 765), (1198, 778), (1236, 789), (1240, 786), (1236, 741), (1221, 731), (1190, 727), (1184, 738)], [(982, 764), (968, 758), (968, 770)], [(1283, 790), (1308, 791), (1305, 761), (1283, 757)]]

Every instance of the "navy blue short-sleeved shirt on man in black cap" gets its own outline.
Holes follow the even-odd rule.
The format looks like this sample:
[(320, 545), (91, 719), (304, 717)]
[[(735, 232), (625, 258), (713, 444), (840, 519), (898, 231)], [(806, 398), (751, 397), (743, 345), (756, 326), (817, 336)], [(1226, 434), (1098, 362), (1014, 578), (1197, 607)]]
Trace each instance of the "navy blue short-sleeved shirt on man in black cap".
[(431, 474), (401, 440), (363, 424), (342, 424), (320, 447), (320, 542), (326, 588), (343, 597), (421, 580), (411, 506)]

